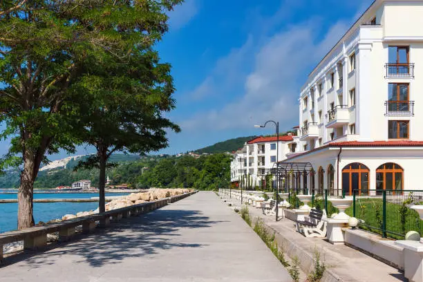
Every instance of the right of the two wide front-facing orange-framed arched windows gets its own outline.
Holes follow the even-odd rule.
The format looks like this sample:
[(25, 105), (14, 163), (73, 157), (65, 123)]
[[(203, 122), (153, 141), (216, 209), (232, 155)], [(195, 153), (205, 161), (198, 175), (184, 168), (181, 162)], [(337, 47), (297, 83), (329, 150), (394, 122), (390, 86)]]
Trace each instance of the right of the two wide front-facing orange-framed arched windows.
[(382, 194), (382, 190), (404, 189), (404, 169), (398, 164), (388, 162), (376, 169), (376, 192)]

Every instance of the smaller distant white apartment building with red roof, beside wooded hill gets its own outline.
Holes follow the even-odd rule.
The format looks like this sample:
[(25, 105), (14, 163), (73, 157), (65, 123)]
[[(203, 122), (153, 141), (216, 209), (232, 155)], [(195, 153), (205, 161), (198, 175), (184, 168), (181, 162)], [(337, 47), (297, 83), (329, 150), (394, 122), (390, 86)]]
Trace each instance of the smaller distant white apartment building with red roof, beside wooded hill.
[(274, 167), (276, 160), (286, 158), (290, 150), (288, 144), (293, 140), (292, 135), (279, 136), (279, 150), (276, 136), (260, 136), (245, 142), (243, 148), (232, 153), (231, 182), (238, 186), (243, 181), (243, 187), (263, 187), (267, 171)]

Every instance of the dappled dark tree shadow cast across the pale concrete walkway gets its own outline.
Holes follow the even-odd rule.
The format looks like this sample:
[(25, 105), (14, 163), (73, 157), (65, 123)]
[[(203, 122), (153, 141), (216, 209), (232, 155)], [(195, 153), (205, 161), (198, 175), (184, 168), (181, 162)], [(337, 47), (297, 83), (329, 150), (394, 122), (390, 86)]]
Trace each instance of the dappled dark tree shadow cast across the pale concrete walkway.
[[(77, 235), (69, 243), (50, 245), (44, 252), (25, 252), (8, 258), (7, 265), (24, 261), (22, 267), (32, 269), (53, 265), (61, 256), (72, 255), (70, 263), (88, 263), (91, 267), (120, 263), (124, 259), (158, 254), (176, 247), (203, 247), (196, 243), (180, 243), (180, 229), (207, 228), (223, 221), (212, 221), (194, 210), (159, 209), (149, 214), (112, 223), (96, 229), (90, 236)], [(7, 267), (7, 266), (6, 266)]]

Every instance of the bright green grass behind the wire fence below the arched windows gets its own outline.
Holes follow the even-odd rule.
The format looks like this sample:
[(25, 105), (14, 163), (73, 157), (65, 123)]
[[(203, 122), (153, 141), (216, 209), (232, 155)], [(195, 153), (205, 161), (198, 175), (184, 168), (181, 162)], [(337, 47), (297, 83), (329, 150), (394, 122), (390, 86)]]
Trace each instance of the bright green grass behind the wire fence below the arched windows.
[[(359, 227), (382, 235), (382, 206), (380, 198), (360, 198), (355, 203), (355, 217), (364, 220)], [(353, 206), (346, 209), (353, 216)], [(386, 203), (386, 232), (394, 239), (404, 239), (408, 231), (423, 234), (423, 223), (415, 210), (397, 203)]]

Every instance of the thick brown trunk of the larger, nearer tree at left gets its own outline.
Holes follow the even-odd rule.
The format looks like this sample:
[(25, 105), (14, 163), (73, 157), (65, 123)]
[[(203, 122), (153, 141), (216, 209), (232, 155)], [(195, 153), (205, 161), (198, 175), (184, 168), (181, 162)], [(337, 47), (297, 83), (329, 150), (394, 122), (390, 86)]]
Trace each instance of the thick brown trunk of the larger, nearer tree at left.
[(32, 153), (23, 152), (23, 170), (21, 171), (21, 185), (18, 191), (18, 229), (25, 229), (34, 225), (33, 203), (35, 161)]

